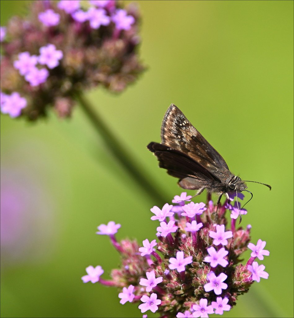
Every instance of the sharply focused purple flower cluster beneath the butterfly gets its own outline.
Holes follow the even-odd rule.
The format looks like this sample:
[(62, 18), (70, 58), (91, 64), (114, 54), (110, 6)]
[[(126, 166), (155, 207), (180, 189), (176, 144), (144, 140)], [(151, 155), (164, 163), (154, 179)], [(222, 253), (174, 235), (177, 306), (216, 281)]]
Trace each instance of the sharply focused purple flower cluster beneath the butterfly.
[[(238, 197), (243, 199), (243, 197)], [(157, 238), (143, 241), (117, 242), (114, 234), (121, 227), (113, 221), (100, 225), (97, 234), (108, 235), (121, 254), (121, 268), (111, 273), (112, 280), (102, 280), (100, 266), (86, 268), (82, 280), (99, 281), (120, 289), (121, 304), (141, 301), (142, 313), (151, 310), (164, 317), (208, 317), (222, 315), (236, 305), (237, 297), (248, 291), (253, 281), (268, 278), (265, 266), (258, 265), (269, 255), (265, 241), (249, 243), (250, 228), (236, 228), (231, 218), (227, 229), (226, 207), (208, 202), (186, 203), (190, 196), (175, 196), (175, 205), (154, 206), (152, 220), (160, 222)], [(228, 218), (230, 219), (230, 218)], [(201, 222), (200, 222), (201, 221)], [(245, 265), (239, 264), (239, 255), (252, 250)]]

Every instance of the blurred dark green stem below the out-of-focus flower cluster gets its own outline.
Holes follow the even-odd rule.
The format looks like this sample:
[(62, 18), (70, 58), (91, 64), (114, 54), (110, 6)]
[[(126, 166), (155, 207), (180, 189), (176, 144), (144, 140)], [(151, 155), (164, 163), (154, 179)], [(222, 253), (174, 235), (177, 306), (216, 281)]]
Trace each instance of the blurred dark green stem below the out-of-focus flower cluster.
[(168, 196), (166, 196), (162, 190), (155, 189), (155, 183), (152, 183), (150, 179), (146, 177), (147, 173), (144, 172), (142, 167), (137, 165), (138, 161), (134, 160), (134, 155), (131, 155), (130, 151), (126, 149), (123, 143), (117, 139), (116, 135), (110, 131), (83, 94), (77, 93), (75, 97), (96, 131), (102, 137), (105, 146), (111, 151), (129, 176), (133, 178), (143, 193), (149, 195), (152, 199), (152, 204), (158, 204), (160, 207), (165, 204)]

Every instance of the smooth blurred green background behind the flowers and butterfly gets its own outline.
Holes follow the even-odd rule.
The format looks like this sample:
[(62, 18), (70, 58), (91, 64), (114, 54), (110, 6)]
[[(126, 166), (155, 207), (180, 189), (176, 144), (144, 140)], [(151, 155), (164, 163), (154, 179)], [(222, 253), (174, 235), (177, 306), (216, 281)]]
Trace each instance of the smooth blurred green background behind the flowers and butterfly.
[[(242, 225), (267, 241), (268, 280), (254, 283), (224, 317), (293, 317), (293, 2), (139, 1), (141, 57), (148, 70), (121, 95), (87, 97), (170, 201), (181, 190), (146, 149), (160, 141), (170, 103), (245, 180), (254, 198)], [(1, 25), (26, 1), (1, 1)], [(88, 265), (104, 278), (119, 256), (96, 227), (121, 223), (117, 237), (153, 239), (144, 195), (105, 149), (79, 107), (36, 124), (1, 118), (1, 167), (23, 184), (29, 204), (2, 251), (2, 317), (141, 317), (118, 291), (83, 284)], [(31, 197), (31, 189), (38, 195)], [(35, 193), (37, 193), (35, 192)], [(191, 191), (193, 194), (193, 191)], [(197, 201), (204, 200), (202, 196)], [(13, 233), (13, 231), (12, 231)], [(245, 259), (249, 257), (245, 254)], [(156, 315), (148, 314), (149, 317)]]

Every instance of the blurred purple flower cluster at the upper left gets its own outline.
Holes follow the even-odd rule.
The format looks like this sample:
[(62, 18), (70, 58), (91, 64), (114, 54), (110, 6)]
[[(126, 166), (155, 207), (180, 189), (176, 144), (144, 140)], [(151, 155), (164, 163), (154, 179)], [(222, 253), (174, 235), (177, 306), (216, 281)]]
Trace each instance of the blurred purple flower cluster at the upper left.
[(65, 117), (85, 89), (122, 91), (144, 70), (139, 20), (115, 0), (33, 1), (0, 30), (2, 113), (36, 120), (53, 106)]

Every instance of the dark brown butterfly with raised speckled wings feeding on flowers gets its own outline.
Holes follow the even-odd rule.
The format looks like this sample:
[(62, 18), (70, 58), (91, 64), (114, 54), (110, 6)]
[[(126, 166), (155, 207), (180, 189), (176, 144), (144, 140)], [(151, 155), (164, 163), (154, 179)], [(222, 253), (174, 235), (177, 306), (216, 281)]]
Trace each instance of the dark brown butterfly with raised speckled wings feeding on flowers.
[[(160, 168), (167, 169), (169, 175), (180, 179), (180, 187), (196, 190), (195, 195), (204, 189), (208, 193), (217, 193), (217, 204), (223, 194), (229, 198), (228, 192), (236, 191), (237, 196), (241, 191), (251, 193), (246, 190), (245, 182), (256, 182), (242, 181), (232, 174), (224, 158), (173, 104), (167, 109), (162, 122), (161, 143), (150, 142), (147, 148), (154, 152)], [(270, 185), (261, 184), (271, 189)]]

